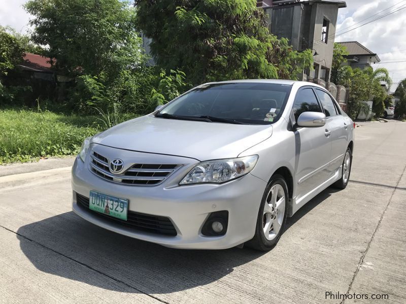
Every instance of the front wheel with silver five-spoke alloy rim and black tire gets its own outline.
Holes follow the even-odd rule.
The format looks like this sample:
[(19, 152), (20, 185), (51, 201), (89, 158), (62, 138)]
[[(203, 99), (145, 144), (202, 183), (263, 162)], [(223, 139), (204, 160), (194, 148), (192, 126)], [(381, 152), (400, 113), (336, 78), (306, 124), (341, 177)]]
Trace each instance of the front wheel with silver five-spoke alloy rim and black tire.
[(274, 248), (285, 229), (288, 207), (288, 187), (282, 175), (272, 176), (265, 188), (259, 207), (255, 235), (246, 245), (256, 250)]

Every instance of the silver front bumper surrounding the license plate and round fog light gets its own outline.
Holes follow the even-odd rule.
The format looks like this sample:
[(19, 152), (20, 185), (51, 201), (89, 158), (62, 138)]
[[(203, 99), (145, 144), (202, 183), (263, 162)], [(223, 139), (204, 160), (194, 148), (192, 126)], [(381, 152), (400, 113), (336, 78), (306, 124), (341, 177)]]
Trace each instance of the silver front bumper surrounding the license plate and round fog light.
[[(73, 211), (100, 227), (128, 237), (183, 249), (231, 248), (254, 236), (266, 183), (251, 174), (224, 184), (178, 186), (176, 181), (185, 174), (185, 170), (181, 170), (162, 184), (134, 186), (96, 176), (89, 170), (87, 161), (83, 163), (77, 158), (72, 169)], [(177, 236), (137, 231), (100, 218), (76, 202), (76, 193), (88, 198), (90, 191), (128, 199), (129, 211), (170, 218)], [(219, 237), (202, 235), (202, 225), (210, 213), (222, 210), (228, 211), (226, 234)]]

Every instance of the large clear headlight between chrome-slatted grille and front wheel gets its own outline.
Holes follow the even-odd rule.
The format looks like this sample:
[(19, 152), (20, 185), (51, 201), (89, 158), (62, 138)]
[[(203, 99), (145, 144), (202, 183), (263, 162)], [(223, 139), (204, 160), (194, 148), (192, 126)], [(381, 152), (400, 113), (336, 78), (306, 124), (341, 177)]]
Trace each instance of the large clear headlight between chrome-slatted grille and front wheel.
[(258, 161), (257, 155), (207, 161), (197, 164), (179, 183), (180, 185), (195, 183), (222, 183), (249, 173)]

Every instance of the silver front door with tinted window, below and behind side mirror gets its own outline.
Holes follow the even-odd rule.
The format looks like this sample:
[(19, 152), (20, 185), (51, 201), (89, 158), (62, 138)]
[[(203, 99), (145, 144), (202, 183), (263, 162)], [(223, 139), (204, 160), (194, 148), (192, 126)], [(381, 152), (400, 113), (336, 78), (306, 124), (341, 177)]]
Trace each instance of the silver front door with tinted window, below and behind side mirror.
[[(301, 113), (307, 111), (323, 112), (311, 87), (304, 87), (297, 92), (292, 108), (296, 121)], [(294, 134), (296, 202), (300, 202), (301, 198), (328, 179), (331, 136), (328, 134), (327, 125), (324, 127), (298, 127)]]

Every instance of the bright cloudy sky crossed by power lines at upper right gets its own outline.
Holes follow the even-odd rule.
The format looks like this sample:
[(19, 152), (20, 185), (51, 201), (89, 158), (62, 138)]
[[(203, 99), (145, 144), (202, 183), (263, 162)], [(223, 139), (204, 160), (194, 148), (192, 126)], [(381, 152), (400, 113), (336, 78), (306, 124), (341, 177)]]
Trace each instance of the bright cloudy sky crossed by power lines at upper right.
[[(406, 8), (397, 13), (388, 15), (367, 25), (354, 29), (355, 27), (379, 18), (390, 13), (396, 8), (406, 6), (406, 0), (376, 0), (367, 2), (365, 0), (348, 0), (347, 8), (339, 11), (339, 24), (337, 25), (336, 41), (358, 41), (370, 51), (377, 53), (381, 59), (380, 64), (374, 68), (385, 67), (389, 70), (394, 83), (406, 78), (406, 62), (385, 63), (388, 61), (406, 61)], [(391, 9), (388, 9), (392, 7)], [(388, 10), (385, 10), (388, 9)], [(375, 15), (359, 24), (359, 21)], [(349, 27), (348, 29), (345, 29)], [(351, 30), (354, 29), (354, 30)], [(342, 30), (340, 32), (340, 30)], [(348, 33), (344, 31), (351, 30)], [(397, 84), (391, 88), (394, 91)]]

